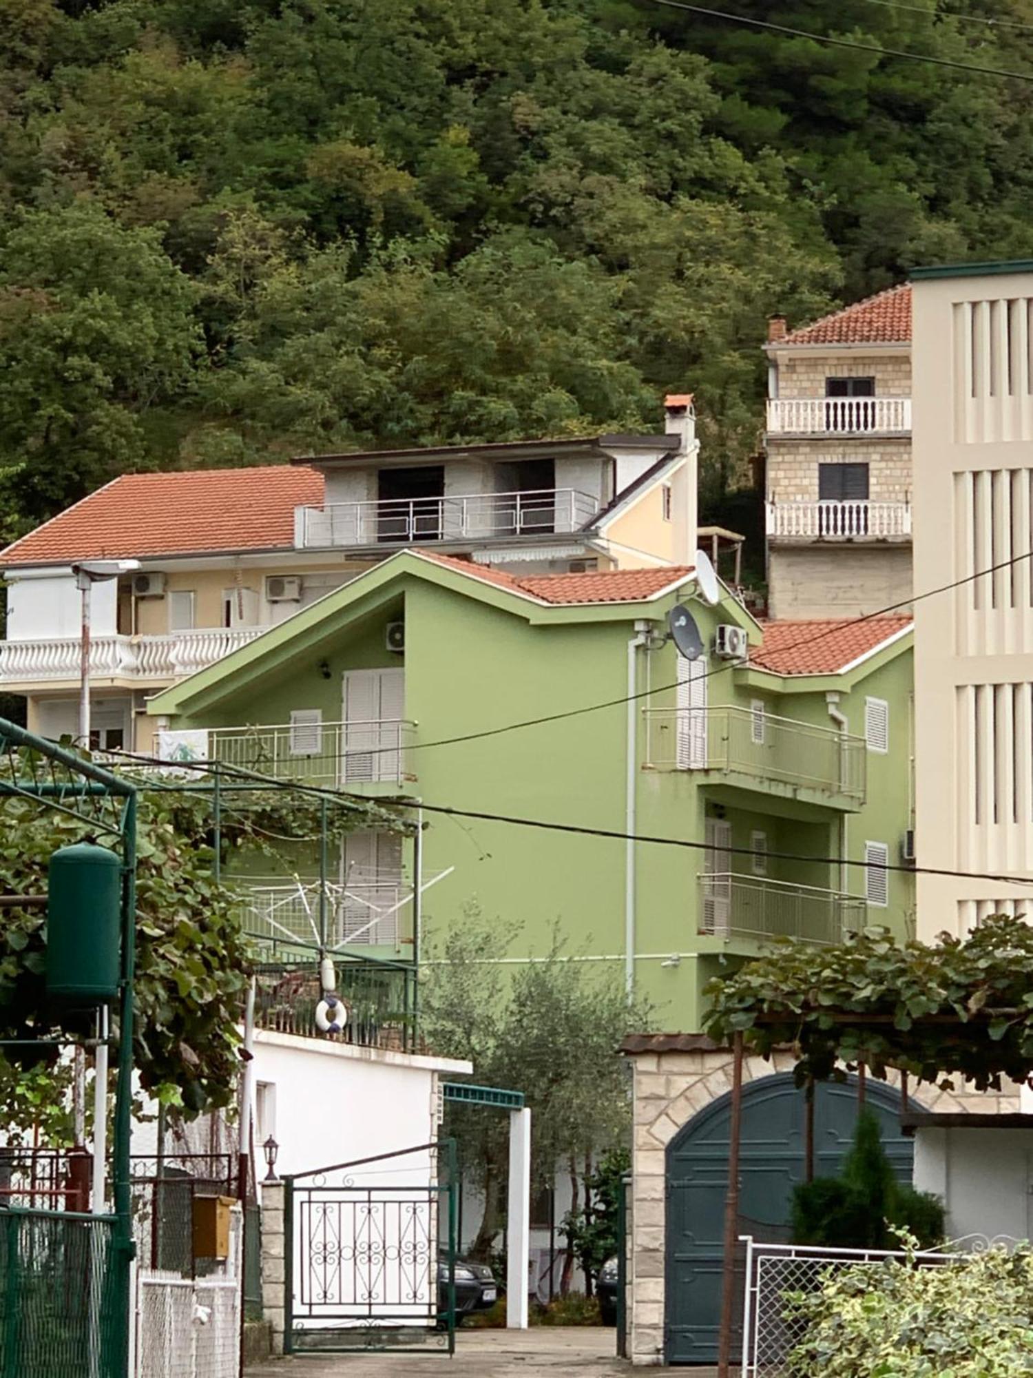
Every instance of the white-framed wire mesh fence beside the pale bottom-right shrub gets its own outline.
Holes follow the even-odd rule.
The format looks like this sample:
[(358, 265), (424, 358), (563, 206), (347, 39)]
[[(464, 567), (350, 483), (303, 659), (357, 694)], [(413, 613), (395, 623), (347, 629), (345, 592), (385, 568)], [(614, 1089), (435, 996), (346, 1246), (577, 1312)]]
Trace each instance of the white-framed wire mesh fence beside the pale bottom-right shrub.
[(786, 1360), (802, 1342), (807, 1324), (803, 1316), (795, 1315), (791, 1298), (795, 1293), (818, 1291), (829, 1272), (886, 1259), (935, 1268), (966, 1258), (964, 1254), (935, 1250), (908, 1255), (880, 1248), (763, 1244), (752, 1236), (740, 1237), (740, 1246), (745, 1246), (741, 1378), (778, 1378), (785, 1371)]

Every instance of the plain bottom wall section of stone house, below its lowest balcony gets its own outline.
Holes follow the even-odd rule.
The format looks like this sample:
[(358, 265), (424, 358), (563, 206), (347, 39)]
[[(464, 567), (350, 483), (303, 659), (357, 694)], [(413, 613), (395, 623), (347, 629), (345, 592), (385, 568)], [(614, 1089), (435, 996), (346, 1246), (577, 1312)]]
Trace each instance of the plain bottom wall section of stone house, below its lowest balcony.
[(909, 544), (815, 542), (767, 551), (771, 617), (862, 617), (910, 594)]

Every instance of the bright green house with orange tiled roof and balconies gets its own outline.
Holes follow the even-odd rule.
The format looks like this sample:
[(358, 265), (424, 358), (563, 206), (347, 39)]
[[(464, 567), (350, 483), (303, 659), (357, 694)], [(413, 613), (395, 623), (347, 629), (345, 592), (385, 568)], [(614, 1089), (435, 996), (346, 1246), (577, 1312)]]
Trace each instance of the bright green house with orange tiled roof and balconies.
[[(759, 624), (720, 594), (401, 551), (154, 697), (156, 744), (412, 802), (419, 854), (371, 832), (332, 858), (333, 945), (412, 956), (415, 909), (441, 929), (475, 901), (519, 925), (512, 959), (559, 922), (698, 1028), (707, 980), (770, 937), (913, 919), (910, 623)], [(249, 926), (311, 937), (314, 881), (311, 858), (248, 878)]]

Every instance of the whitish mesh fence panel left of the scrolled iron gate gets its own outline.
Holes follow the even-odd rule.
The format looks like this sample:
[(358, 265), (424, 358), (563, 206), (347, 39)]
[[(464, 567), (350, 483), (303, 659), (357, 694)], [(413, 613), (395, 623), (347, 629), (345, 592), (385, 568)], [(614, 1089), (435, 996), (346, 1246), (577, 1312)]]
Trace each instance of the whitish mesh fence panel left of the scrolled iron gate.
[(234, 1207), (229, 1257), (208, 1276), (139, 1271), (135, 1378), (238, 1378), (242, 1258)]

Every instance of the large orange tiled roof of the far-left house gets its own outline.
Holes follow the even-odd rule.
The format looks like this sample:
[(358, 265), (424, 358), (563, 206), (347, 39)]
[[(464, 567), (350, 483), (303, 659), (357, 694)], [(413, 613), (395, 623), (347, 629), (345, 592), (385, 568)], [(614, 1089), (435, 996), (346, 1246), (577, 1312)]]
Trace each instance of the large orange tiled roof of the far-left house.
[(299, 464), (124, 474), (0, 551), (0, 565), (291, 548), (295, 507), (324, 497)]

